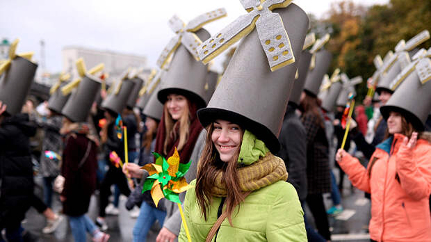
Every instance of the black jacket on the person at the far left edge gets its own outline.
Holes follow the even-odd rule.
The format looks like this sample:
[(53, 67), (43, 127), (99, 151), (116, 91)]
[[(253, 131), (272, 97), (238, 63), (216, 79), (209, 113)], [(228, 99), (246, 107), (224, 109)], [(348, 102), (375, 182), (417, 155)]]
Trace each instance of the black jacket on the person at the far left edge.
[(34, 183), (29, 137), (35, 131), (26, 114), (1, 122), (0, 228), (19, 225), (31, 205)]

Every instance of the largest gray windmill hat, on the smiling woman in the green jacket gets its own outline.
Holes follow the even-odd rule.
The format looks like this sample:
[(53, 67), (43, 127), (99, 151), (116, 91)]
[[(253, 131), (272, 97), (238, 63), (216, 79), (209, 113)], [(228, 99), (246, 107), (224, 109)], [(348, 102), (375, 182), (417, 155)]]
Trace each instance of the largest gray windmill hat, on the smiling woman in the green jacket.
[[(236, 122), (243, 129), (251, 131), (257, 138), (263, 140), (271, 152), (277, 153), (279, 150), (277, 136), (282, 127), (289, 93), (300, 62), (298, 59), (301, 56), (309, 20), (307, 14), (293, 3), (285, 8), (273, 10), (270, 14), (277, 14), (273, 15), (274, 18), (261, 13), (263, 11), (259, 12), (259, 8), (269, 8), (270, 4), (274, 4), (274, 1), (267, 0), (239, 18), (245, 22), (249, 18), (253, 19), (254, 15), (261, 14), (256, 23), (256, 29), (251, 29), (252, 32), (238, 45), (208, 106), (197, 111), (197, 115), (204, 127), (218, 118)], [(289, 24), (283, 26), (280, 20)], [(221, 31), (220, 37), (217, 34), (211, 40), (229, 36), (227, 34), (230, 33), (229, 31), (238, 31), (235, 28), (237, 24), (249, 23), (244, 22), (238, 23), (237, 19)], [(266, 33), (269, 29), (270, 33)], [(220, 42), (219, 39), (217, 40)], [(275, 65), (278, 64), (268, 62), (268, 57), (270, 60), (275, 58), (267, 55), (267, 43), (271, 44), (269, 49), (289, 45), (291, 57), (294, 56), (295, 61), (272, 72), (271, 69), (274, 70)], [(206, 42), (203, 45), (206, 45)], [(277, 50), (276, 53), (281, 56), (283, 52), (284, 49)]]

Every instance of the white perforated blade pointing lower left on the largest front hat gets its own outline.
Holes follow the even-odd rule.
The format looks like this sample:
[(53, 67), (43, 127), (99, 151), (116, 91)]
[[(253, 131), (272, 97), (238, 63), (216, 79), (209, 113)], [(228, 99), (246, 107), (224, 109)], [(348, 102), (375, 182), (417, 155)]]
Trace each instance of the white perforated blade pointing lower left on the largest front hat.
[(252, 15), (250, 13), (241, 15), (218, 34), (205, 40), (202, 43), (202, 47), (198, 48), (197, 51), (200, 60), (204, 64), (209, 63), (215, 56), (218, 56), (222, 51), (234, 45), (238, 40), (241, 40), (241, 38), (254, 29), (258, 17), (259, 15)]

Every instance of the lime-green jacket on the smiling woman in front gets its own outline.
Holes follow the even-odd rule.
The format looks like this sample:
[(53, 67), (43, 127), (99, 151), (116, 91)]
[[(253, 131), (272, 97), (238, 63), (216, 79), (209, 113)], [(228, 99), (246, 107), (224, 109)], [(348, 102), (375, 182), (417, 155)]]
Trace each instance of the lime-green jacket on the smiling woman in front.
[[(195, 185), (196, 180), (190, 184)], [(197, 204), (195, 189), (187, 191), (184, 216), (193, 242), (205, 241), (217, 220), (221, 197), (213, 197), (211, 209), (204, 220)], [(295, 188), (286, 181), (277, 181), (250, 193), (232, 213), (232, 224), (227, 218), (217, 234), (217, 241), (307, 241), (302, 211)], [(181, 225), (179, 242), (186, 242), (184, 224)], [(213, 239), (214, 241), (214, 239)]]

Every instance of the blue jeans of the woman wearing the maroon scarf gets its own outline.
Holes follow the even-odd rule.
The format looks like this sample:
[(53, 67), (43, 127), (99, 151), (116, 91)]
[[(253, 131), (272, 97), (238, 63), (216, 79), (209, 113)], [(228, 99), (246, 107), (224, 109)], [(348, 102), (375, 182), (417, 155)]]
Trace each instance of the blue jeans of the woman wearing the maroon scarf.
[(140, 205), (140, 213), (136, 220), (135, 227), (133, 227), (133, 242), (147, 241), (147, 234), (153, 223), (158, 220), (160, 225), (163, 225), (166, 212), (149, 206), (147, 202)]

